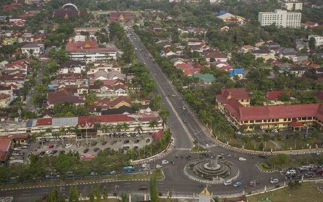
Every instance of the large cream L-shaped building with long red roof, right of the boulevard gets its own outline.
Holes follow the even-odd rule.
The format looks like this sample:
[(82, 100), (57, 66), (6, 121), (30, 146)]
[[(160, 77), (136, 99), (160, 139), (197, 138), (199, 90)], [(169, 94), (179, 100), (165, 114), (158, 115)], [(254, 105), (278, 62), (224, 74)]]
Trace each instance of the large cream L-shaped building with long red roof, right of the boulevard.
[(245, 90), (241, 89), (233, 92), (222, 89), (221, 94), (216, 95), (216, 108), (237, 128), (251, 131), (254, 126), (260, 129), (291, 127), (294, 130), (306, 125), (323, 127), (323, 104), (245, 107), (236, 98), (241, 100), (245, 96)]

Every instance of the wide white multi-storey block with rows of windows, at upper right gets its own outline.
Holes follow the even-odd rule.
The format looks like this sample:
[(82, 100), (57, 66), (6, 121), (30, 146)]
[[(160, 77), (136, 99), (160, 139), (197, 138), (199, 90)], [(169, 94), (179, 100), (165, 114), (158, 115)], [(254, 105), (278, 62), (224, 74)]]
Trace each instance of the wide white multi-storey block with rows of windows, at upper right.
[(258, 21), (261, 26), (275, 23), (278, 27), (297, 28), (301, 26), (301, 16), (301, 13), (277, 9), (275, 12), (259, 12)]

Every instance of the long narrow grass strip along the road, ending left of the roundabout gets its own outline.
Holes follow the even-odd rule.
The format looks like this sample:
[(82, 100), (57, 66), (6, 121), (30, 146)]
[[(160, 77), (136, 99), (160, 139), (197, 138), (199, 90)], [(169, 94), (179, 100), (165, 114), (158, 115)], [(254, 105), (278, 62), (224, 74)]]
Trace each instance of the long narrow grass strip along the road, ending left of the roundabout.
[[(156, 180), (163, 180), (164, 174), (160, 169), (152, 171), (152, 174), (156, 175)], [(55, 186), (55, 185), (65, 185), (65, 184), (74, 184), (74, 183), (83, 183), (83, 182), (100, 182), (100, 181), (112, 181), (112, 180), (149, 180), (151, 174), (150, 171), (147, 173), (139, 173), (132, 175), (114, 175), (114, 176), (102, 176), (100, 177), (91, 177), (84, 179), (75, 179), (75, 180), (53, 180), (51, 181), (42, 181), (42, 182), (23, 182), (23, 183), (12, 183), (12, 184), (4, 184), (1, 185), (1, 189), (8, 188), (19, 188), (19, 187), (30, 187), (30, 186)]]

